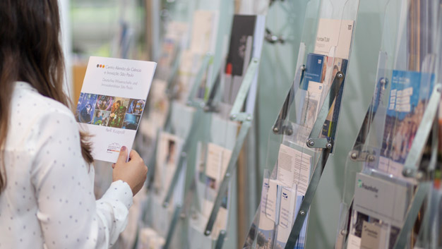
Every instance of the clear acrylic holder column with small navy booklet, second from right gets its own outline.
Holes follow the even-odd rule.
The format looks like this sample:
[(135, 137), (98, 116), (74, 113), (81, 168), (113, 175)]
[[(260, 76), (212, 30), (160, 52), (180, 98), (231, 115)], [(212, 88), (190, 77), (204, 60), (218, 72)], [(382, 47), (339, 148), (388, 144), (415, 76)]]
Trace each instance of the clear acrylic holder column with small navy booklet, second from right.
[(294, 82), (269, 135), (280, 149), (275, 160), (268, 154), (267, 166), (275, 166), (243, 248), (306, 246), (309, 207), (335, 144), (358, 4), (306, 4)]

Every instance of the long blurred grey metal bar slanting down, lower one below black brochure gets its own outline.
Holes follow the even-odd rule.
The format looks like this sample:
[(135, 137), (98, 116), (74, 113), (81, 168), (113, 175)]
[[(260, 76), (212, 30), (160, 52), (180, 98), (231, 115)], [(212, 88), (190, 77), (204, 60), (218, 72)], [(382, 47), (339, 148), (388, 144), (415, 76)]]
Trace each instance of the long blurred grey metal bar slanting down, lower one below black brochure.
[(212, 212), (210, 213), (210, 217), (207, 225), (205, 226), (204, 234), (205, 236), (209, 236), (212, 233), (213, 225), (215, 224), (215, 220), (220, 210), (222, 199), (225, 197), (227, 193), (227, 188), (229, 187), (230, 180), (234, 174), (234, 170), (237, 168), (237, 159), (239, 157), (239, 152), (241, 151), (244, 140), (246, 139), (246, 135), (249, 132), (251, 127), (251, 120), (246, 120), (242, 123), (241, 129), (239, 130), (239, 134), (237, 137), (237, 141), (235, 142), (234, 149), (232, 151), (232, 156), (230, 157), (229, 164), (227, 166), (226, 173), (224, 178), (222, 178), (222, 182), (220, 188), (217, 193), (217, 197), (213, 204)]

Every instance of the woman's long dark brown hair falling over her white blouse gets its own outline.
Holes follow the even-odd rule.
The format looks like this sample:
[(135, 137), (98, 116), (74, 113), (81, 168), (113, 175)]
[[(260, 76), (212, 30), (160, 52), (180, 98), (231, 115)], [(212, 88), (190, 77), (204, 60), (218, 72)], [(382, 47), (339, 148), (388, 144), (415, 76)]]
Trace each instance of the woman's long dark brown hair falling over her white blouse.
[[(70, 106), (63, 92), (64, 56), (59, 43), (58, 0), (0, 1), (0, 148), (4, 168), (4, 145), (13, 84), (25, 81), (46, 97)], [(92, 162), (87, 135), (80, 133), (81, 152)], [(6, 174), (0, 173), (0, 191)]]

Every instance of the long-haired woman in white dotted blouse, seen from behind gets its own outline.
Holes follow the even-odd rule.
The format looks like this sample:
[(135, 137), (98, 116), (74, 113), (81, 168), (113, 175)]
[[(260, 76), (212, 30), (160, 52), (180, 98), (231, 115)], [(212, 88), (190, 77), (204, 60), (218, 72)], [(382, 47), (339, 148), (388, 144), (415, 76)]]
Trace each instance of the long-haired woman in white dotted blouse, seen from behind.
[[(121, 148), (100, 200), (62, 91), (57, 0), (0, 1), (0, 248), (109, 248), (147, 167)], [(126, 158), (129, 153), (129, 162)]]

